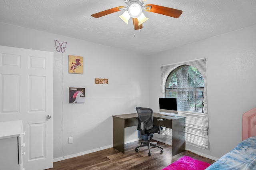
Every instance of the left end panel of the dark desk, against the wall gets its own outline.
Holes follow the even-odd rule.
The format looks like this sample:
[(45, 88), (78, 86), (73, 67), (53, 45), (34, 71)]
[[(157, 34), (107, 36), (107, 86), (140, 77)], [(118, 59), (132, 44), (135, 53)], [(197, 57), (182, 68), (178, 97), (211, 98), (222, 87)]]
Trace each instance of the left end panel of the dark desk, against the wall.
[(113, 148), (124, 154), (124, 119), (113, 116)]

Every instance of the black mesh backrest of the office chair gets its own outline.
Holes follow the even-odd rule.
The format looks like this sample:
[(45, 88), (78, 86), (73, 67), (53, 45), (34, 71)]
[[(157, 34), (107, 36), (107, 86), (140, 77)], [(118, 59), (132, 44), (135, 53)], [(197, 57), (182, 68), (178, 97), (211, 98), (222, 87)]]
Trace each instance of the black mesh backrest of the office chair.
[(138, 130), (141, 129), (140, 125), (143, 122), (145, 124), (145, 129), (148, 130), (153, 127), (153, 111), (146, 107), (136, 107), (138, 113)]

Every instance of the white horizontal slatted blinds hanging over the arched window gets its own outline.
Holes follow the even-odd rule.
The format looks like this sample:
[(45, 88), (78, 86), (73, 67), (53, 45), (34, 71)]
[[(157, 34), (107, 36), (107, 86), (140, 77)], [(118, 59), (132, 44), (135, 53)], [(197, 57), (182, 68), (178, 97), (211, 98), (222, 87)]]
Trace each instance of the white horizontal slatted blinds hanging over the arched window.
[[(186, 78), (184, 78), (183, 80), (170, 79), (170, 76), (171, 76), (170, 73), (173, 74), (173, 72), (175, 72), (174, 70), (182, 65), (190, 65), (192, 67), (195, 67), (200, 72), (201, 75), (199, 74), (194, 76), (202, 76), (201, 79), (203, 78), (204, 80), (204, 84), (202, 85), (202, 87), (197, 87), (196, 89), (193, 90), (192, 87), (190, 86), (185, 87), (183, 85), (184, 81), (186, 80), (188, 81), (188, 79)], [(169, 97), (168, 95), (171, 91), (169, 87), (166, 88), (166, 82), (168, 83), (170, 82), (171, 84), (172, 82), (177, 81), (176, 82), (177, 87), (175, 88), (178, 93), (177, 95), (178, 115), (186, 117), (186, 143), (199, 148), (208, 148), (206, 58), (174, 63), (170, 65), (163, 65), (160, 67), (161, 67), (161, 80), (162, 80), (162, 97)], [(185, 83), (188, 84), (188, 82), (185, 82)], [(168, 135), (168, 134), (170, 134), (170, 132), (169, 133), (167, 132), (167, 134), (163, 133), (163, 135)]]

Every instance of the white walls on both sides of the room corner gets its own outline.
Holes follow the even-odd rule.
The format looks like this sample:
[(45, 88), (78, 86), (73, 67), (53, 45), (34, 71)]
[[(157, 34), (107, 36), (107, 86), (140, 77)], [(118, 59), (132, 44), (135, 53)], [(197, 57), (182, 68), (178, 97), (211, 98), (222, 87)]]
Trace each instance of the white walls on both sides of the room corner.
[[(186, 147), (219, 158), (241, 141), (242, 114), (256, 107), (255, 30), (256, 25), (145, 57), (0, 23), (0, 45), (54, 52), (55, 159), (110, 147), (112, 115), (135, 113), (136, 106), (159, 111), (160, 65), (206, 57), (210, 144), (206, 150)], [(56, 51), (54, 40), (67, 42), (65, 53)], [(84, 74), (68, 74), (68, 55), (84, 57)], [(98, 77), (109, 84), (94, 84)], [(85, 103), (68, 104), (68, 87), (85, 87)], [(126, 140), (138, 137), (133, 129), (126, 132)]]

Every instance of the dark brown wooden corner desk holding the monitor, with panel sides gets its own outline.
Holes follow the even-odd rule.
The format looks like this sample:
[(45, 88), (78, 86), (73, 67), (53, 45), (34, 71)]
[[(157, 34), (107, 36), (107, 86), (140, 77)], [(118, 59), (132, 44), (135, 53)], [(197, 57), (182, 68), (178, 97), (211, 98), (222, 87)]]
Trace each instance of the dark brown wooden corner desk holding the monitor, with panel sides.
[[(113, 115), (113, 147), (124, 153), (124, 128), (138, 125), (138, 114)], [(164, 118), (163, 127), (172, 129), (172, 156), (185, 151), (185, 117), (164, 116), (153, 113), (154, 124)]]

